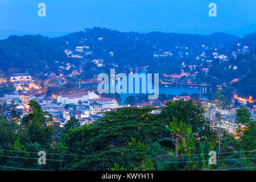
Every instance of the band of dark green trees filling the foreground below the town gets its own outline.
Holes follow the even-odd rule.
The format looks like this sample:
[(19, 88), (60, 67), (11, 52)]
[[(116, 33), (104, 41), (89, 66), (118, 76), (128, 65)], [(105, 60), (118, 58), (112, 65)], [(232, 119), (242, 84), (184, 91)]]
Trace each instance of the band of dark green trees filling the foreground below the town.
[[(255, 122), (243, 107), (237, 113), (237, 122), (244, 125), (242, 130), (237, 136), (224, 132), (224, 154), (212, 166), (208, 152), (218, 151), (218, 135), (209, 127), (202, 107), (192, 100), (179, 100), (168, 102), (161, 114), (151, 114), (155, 109), (119, 108), (90, 125), (80, 126), (71, 118), (61, 128), (31, 100), (30, 113), (20, 125), (0, 118), (0, 166), (113, 171), (255, 166), (254, 159), (244, 159), (255, 156), (255, 152), (247, 152), (255, 150)], [(46, 151), (46, 165), (38, 164), (39, 151)]]

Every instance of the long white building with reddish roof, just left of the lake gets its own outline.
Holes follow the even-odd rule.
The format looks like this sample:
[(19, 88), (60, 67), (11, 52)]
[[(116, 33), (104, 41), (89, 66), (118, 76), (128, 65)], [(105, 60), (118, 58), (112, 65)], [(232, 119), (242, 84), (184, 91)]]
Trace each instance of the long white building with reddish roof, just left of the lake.
[(99, 98), (94, 92), (79, 93), (71, 95), (62, 95), (57, 97), (57, 101), (61, 104), (75, 104), (77, 105), (80, 101), (85, 102), (92, 99)]

